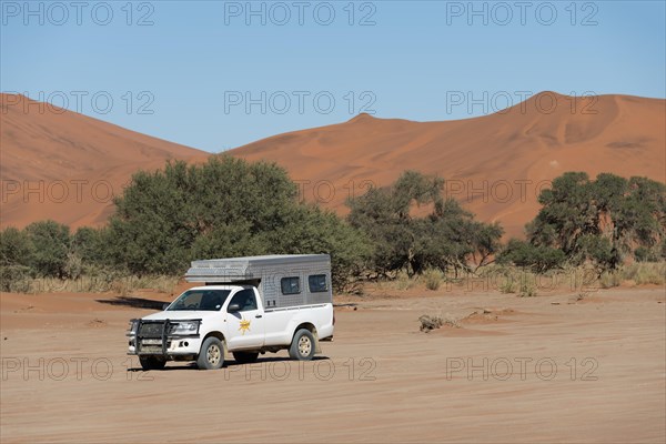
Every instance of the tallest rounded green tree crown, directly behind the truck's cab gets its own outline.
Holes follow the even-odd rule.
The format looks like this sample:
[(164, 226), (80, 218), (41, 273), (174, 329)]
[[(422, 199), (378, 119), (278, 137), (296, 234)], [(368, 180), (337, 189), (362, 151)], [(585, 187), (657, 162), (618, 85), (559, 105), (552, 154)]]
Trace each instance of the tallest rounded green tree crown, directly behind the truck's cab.
[[(274, 164), (231, 157), (211, 157), (202, 165), (168, 163), (134, 174), (115, 200), (107, 233), (110, 253), (138, 274), (181, 273), (200, 236), (215, 242), (221, 254), (256, 250), (244, 239), (279, 228), (295, 196), (295, 185)], [(232, 250), (220, 249), (239, 240)], [(213, 249), (204, 243), (196, 242), (198, 253)]]

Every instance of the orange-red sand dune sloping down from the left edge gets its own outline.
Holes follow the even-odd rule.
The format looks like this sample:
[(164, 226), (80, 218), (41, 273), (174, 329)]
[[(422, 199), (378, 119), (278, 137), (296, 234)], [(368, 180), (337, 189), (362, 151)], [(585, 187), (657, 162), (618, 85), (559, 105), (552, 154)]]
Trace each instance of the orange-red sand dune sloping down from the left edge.
[(14, 94), (0, 94), (0, 128), (3, 228), (102, 225), (137, 170), (208, 155)]

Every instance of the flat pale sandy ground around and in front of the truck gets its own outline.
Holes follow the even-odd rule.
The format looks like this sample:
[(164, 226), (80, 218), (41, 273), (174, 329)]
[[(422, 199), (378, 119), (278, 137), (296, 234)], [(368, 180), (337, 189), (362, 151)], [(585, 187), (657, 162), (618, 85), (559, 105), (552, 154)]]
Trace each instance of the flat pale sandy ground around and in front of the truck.
[[(137, 301), (2, 294), (0, 441), (666, 440), (663, 287), (394, 293), (340, 297), (316, 361), (281, 352), (210, 372), (140, 371), (124, 330), (152, 311)], [(424, 313), (462, 327), (422, 333)]]

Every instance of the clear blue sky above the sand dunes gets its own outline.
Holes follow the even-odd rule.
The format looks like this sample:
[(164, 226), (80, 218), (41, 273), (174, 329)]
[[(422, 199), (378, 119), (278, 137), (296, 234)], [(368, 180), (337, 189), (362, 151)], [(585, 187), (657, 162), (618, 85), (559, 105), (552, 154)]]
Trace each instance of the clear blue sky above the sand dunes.
[(0, 90), (212, 152), (363, 110), (666, 97), (664, 1), (74, 3), (1, 1)]

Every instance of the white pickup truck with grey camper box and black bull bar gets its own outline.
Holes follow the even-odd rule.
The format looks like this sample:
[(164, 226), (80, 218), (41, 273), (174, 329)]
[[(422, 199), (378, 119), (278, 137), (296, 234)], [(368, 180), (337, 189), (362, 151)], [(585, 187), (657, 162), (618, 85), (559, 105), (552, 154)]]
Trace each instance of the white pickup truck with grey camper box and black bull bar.
[(331, 260), (326, 254), (194, 261), (185, 279), (204, 282), (165, 306), (131, 320), (128, 354), (144, 370), (167, 361), (220, 369), (226, 352), (239, 363), (289, 350), (311, 360), (333, 339)]

